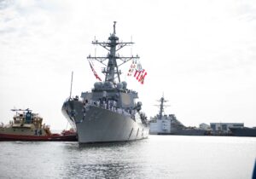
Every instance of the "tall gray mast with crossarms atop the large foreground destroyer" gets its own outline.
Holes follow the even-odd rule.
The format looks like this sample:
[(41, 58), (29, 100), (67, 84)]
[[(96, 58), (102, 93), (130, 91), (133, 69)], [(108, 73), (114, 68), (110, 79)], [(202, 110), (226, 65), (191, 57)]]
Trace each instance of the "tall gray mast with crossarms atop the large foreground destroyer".
[[(116, 30), (115, 30), (116, 21), (113, 21), (113, 33), (110, 34), (107, 42), (98, 42), (97, 40), (92, 41), (92, 44), (100, 45), (102, 48), (108, 50), (107, 56), (88, 56), (88, 60), (96, 60), (101, 62), (104, 66), (102, 69), (102, 73), (105, 74), (105, 81), (112, 82), (115, 84), (115, 78), (118, 78), (118, 81), (120, 83), (120, 74), (121, 71), (119, 70), (119, 66), (125, 64), (127, 61), (131, 61), (134, 59), (139, 59), (139, 56), (119, 56), (116, 54), (116, 52), (119, 49), (122, 49), (126, 45), (133, 44), (132, 42), (123, 43), (119, 42), (119, 38), (116, 36)], [(106, 65), (105, 62), (108, 60), (108, 64)], [(117, 60), (121, 61), (120, 64), (117, 63)]]

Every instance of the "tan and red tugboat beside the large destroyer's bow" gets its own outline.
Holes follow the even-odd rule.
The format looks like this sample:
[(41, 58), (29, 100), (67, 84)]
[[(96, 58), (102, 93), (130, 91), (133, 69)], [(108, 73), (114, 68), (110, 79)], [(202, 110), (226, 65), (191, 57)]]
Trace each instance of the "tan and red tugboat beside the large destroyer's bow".
[(63, 130), (51, 133), (49, 125), (42, 124), (43, 118), (31, 109), (12, 109), (14, 120), (0, 126), (0, 141), (77, 141), (76, 132)]

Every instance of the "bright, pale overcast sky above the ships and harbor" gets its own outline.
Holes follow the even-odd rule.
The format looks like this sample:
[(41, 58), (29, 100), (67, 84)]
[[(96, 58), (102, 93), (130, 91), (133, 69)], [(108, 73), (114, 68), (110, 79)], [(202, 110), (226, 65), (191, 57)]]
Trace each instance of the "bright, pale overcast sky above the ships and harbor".
[[(135, 43), (145, 84), (125, 76), (150, 116), (163, 95), (165, 112), (185, 125), (242, 122), (256, 126), (256, 1), (247, 0), (0, 0), (0, 122), (10, 109), (31, 108), (52, 130), (66, 128), (61, 106), (91, 90), (88, 55), (106, 55), (91, 41), (113, 32)], [(94, 62), (97, 72), (100, 64)]]

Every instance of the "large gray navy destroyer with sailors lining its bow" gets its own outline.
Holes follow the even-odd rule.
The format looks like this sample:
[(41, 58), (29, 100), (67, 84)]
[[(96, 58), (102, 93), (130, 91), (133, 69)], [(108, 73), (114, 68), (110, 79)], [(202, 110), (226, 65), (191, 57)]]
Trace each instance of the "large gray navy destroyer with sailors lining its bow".
[[(88, 61), (98, 61), (107, 66), (102, 68), (104, 82), (96, 82), (94, 88), (82, 92), (80, 98), (70, 96), (61, 109), (77, 130), (79, 143), (131, 141), (148, 137), (147, 117), (141, 112), (142, 102), (137, 101), (137, 92), (129, 90), (125, 81), (120, 81), (119, 66), (127, 61), (136, 61), (139, 57), (121, 57), (117, 54), (119, 49), (131, 45), (132, 42), (120, 42), (116, 36), (115, 25), (114, 21), (113, 33), (107, 42), (92, 42), (107, 49), (108, 55), (87, 57)], [(108, 64), (105, 64), (106, 61)], [(96, 72), (93, 72), (101, 81)]]

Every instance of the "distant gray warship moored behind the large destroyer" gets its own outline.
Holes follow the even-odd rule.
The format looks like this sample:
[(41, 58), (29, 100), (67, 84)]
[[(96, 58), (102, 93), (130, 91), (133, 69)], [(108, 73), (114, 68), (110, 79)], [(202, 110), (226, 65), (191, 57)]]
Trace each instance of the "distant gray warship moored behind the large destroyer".
[(150, 130), (151, 135), (179, 135), (179, 136), (204, 136), (207, 135), (207, 130), (197, 129), (195, 127), (186, 127), (180, 121), (177, 120), (174, 114), (163, 114), (164, 103), (166, 102), (164, 97), (160, 98), (160, 112), (154, 118), (150, 118)]

